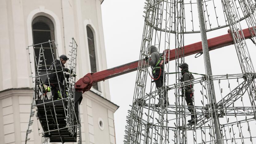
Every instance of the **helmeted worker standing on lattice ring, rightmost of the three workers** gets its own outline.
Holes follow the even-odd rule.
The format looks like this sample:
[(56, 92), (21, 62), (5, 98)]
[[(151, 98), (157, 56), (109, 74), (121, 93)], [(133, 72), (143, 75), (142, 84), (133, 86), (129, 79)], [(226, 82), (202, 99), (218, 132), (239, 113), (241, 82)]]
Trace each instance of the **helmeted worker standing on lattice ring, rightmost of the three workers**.
[[(182, 74), (181, 82), (190, 81), (191, 79), (194, 79), (194, 76), (188, 71), (187, 63), (182, 63), (179, 67), (181, 69), (181, 74)], [(185, 82), (185, 84), (186, 83), (190, 83), (190, 82)], [(192, 86), (193, 85), (187, 85), (182, 87), (182, 96), (185, 96), (188, 110), (191, 113), (191, 119), (188, 120), (188, 122), (195, 123), (197, 121), (197, 115), (195, 114), (195, 109), (193, 105), (193, 87)]]

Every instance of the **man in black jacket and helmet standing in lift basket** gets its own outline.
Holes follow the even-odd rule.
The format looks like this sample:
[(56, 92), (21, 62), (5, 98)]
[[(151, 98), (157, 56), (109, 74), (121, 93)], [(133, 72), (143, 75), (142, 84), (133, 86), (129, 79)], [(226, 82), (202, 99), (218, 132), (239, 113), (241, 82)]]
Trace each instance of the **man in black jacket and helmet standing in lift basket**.
[(52, 92), (54, 100), (59, 99), (60, 94), (62, 95), (62, 98), (66, 97), (66, 92), (64, 89), (65, 74), (63, 72), (69, 71), (69, 69), (65, 68), (65, 63), (68, 59), (69, 58), (66, 55), (62, 54), (60, 56), (60, 60), (56, 59), (54, 62), (52, 62), (52, 65), (48, 69), (48, 73), (51, 74), (48, 74), (48, 77), (46, 78), (44, 83), (47, 86), (50, 86), (50, 90)]

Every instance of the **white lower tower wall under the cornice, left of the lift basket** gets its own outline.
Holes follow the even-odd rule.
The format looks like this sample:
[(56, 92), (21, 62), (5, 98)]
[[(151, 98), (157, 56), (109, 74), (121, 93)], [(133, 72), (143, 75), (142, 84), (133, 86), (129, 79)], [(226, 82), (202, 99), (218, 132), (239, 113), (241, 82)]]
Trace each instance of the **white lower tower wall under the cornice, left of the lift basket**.
[[(0, 144), (25, 143), (26, 130), (30, 116), (32, 101), (32, 90), (9, 90), (0, 96)], [(34, 125), (30, 127), (30, 141), (28, 144), (40, 143), (38, 136), (36, 117), (33, 118)]]

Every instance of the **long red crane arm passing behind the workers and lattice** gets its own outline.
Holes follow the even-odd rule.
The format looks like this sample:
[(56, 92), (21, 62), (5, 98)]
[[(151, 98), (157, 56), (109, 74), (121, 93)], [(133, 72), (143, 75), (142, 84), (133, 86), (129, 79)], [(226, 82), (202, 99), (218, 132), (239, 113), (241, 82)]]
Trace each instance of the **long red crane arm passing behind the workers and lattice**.
[[(255, 37), (255, 33), (253, 28), (243, 29), (243, 34), (245, 39)], [(241, 31), (239, 32), (241, 34)], [(210, 38), (208, 41), (208, 47), (209, 50), (215, 50), (224, 46), (229, 46), (234, 44), (233, 38), (230, 34), (230, 30), (228, 30), (228, 34), (224, 34), (218, 37)], [(177, 49), (177, 48), (176, 48)], [(166, 56), (166, 63), (168, 61), (172, 61), (175, 59), (175, 50), (166, 50), (165, 56)], [(184, 46), (184, 56), (189, 56), (192, 54), (197, 54), (202, 52), (202, 42), (196, 42), (190, 45)], [(130, 62), (121, 66), (117, 66), (111, 69), (102, 70), (96, 73), (88, 73), (83, 78), (80, 78), (75, 83), (75, 89), (76, 91), (82, 91), (83, 93), (85, 91), (90, 90), (90, 88), (100, 81), (105, 81), (106, 79), (117, 77), (122, 74), (127, 74), (130, 72), (133, 72), (137, 70), (139, 61)]]

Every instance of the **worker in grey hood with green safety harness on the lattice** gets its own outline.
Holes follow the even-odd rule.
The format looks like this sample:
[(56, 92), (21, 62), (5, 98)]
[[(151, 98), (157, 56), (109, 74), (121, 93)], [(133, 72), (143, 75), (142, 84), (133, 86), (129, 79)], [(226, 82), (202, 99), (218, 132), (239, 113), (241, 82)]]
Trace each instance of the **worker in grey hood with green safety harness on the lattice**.
[[(158, 52), (155, 46), (150, 46), (149, 51), (150, 51), (149, 52), (150, 58), (146, 57), (146, 61), (149, 59), (149, 65), (152, 68), (152, 75), (154, 78), (154, 82), (158, 90), (161, 90), (162, 86), (165, 83), (164, 66), (163, 66), (164, 64), (163, 64), (162, 54)], [(167, 90), (164, 90), (162, 88), (162, 92), (164, 93), (164, 104), (169, 105)], [(161, 94), (158, 94), (158, 95), (159, 95), (159, 98), (161, 99), (162, 98)], [(158, 102), (158, 104), (161, 104), (161, 102)]]

